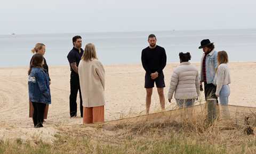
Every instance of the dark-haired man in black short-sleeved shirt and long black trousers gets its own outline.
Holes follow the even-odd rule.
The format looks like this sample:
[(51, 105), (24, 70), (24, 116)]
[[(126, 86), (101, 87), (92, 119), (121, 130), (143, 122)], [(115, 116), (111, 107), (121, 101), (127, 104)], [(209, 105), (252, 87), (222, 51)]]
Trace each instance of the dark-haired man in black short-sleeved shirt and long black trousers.
[(69, 96), (69, 109), (70, 109), (70, 117), (77, 116), (77, 92), (79, 90), (80, 97), (80, 113), (81, 117), (83, 117), (83, 101), (81, 96), (81, 89), (79, 84), (79, 76), (78, 76), (78, 65), (81, 60), (81, 57), (84, 53), (82, 47), (82, 37), (75, 36), (73, 37), (73, 49), (70, 50), (68, 54), (68, 62), (70, 65), (70, 96)]

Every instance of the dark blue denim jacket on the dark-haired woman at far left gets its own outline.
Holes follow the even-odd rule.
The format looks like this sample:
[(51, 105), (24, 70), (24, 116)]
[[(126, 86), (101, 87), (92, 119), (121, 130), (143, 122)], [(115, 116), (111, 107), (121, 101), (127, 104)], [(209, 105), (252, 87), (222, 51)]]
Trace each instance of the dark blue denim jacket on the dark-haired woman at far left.
[(51, 104), (49, 76), (43, 69), (33, 67), (28, 76), (29, 100)]

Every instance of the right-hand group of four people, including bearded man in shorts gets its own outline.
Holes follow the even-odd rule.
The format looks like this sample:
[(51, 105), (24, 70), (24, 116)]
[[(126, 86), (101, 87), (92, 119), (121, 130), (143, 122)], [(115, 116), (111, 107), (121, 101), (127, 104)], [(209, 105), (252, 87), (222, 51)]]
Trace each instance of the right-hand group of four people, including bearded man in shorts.
[[(146, 113), (149, 114), (151, 95), (156, 83), (159, 101), (164, 110), (164, 73), (166, 65), (165, 49), (156, 45), (156, 36), (149, 35), (149, 46), (142, 50), (141, 62), (146, 71)], [(203, 49), (200, 74), (196, 66), (191, 64), (190, 53), (179, 53), (180, 65), (173, 71), (168, 100), (172, 101), (173, 94), (177, 105), (182, 107), (193, 106), (195, 101), (204, 90), (205, 99), (219, 98), (220, 105), (228, 105), (230, 95), (230, 71), (228, 68), (228, 54), (225, 51), (214, 50), (214, 43), (209, 39), (201, 41), (199, 49)], [(204, 88), (203, 88), (204, 84)], [(226, 106), (227, 107), (227, 106)], [(223, 106), (225, 108), (225, 106)]]

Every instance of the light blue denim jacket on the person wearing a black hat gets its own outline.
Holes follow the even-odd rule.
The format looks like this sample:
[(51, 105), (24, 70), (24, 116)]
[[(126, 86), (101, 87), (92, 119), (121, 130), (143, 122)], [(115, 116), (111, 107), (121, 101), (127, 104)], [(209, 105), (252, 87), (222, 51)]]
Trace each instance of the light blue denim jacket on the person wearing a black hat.
[[(204, 75), (203, 75), (203, 59), (204, 59), (204, 55), (201, 59), (201, 73), (200, 73), (200, 81), (204, 81)], [(215, 77), (215, 73), (216, 73), (216, 69), (218, 67), (218, 52), (212, 50), (211, 53), (209, 53), (206, 56), (205, 59), (205, 70), (206, 70), (206, 81), (207, 84), (209, 83), (213, 83), (214, 77)]]

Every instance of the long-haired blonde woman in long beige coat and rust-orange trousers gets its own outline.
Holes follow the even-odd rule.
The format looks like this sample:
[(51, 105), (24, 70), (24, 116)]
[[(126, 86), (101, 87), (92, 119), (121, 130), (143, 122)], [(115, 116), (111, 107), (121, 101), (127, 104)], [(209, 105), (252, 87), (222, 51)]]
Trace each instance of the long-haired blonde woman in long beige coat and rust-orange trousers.
[(83, 99), (83, 124), (103, 122), (105, 70), (93, 44), (85, 46), (78, 74)]

